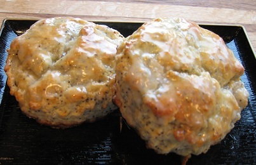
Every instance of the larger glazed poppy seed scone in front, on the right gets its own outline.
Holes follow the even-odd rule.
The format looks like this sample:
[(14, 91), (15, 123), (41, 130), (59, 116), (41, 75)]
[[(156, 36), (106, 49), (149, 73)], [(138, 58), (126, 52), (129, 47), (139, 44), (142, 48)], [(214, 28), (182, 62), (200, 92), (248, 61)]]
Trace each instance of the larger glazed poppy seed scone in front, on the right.
[(244, 68), (213, 32), (182, 18), (144, 23), (118, 48), (116, 96), (126, 122), (159, 154), (201, 154), (248, 102)]

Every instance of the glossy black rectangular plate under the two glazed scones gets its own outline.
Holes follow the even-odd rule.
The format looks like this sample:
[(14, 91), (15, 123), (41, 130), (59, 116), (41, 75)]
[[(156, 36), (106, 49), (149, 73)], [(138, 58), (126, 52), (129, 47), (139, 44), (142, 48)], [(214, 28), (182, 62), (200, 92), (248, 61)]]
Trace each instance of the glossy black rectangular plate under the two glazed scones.
[[(0, 36), (0, 164), (180, 164), (176, 154), (158, 155), (123, 124), (119, 112), (102, 121), (70, 129), (52, 129), (24, 116), (9, 94), (3, 67), (11, 41), (29, 29), (34, 20), (5, 20)], [(142, 23), (98, 22), (130, 35)], [(256, 164), (256, 60), (241, 26), (201, 25), (223, 37), (245, 67), (241, 77), (250, 93), (241, 120), (221, 143), (206, 154), (192, 155), (187, 164)]]

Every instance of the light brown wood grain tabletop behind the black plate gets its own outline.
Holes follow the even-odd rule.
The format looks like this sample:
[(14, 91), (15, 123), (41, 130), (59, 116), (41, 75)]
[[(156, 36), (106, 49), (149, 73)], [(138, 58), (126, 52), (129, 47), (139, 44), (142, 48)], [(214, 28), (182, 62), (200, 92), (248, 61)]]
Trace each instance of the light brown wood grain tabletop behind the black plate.
[(256, 49), (255, 0), (0, 0), (0, 23), (5, 18), (41, 19), (62, 16), (116, 22), (145, 22), (157, 17), (182, 17), (197, 23), (243, 25), (252, 47)]

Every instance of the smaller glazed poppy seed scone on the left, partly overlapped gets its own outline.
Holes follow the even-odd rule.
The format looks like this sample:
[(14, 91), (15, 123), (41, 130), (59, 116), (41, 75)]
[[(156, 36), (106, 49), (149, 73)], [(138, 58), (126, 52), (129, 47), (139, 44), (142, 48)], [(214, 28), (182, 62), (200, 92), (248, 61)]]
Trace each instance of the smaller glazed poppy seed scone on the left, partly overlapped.
[(69, 128), (113, 110), (116, 48), (124, 37), (80, 18), (39, 20), (11, 43), (4, 68), (24, 114)]

